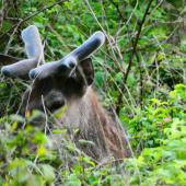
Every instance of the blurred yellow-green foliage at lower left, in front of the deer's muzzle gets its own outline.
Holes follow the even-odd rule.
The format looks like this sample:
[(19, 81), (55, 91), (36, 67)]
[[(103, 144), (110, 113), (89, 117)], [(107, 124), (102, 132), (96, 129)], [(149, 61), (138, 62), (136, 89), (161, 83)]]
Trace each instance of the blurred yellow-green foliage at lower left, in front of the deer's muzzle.
[[(34, 115), (38, 115), (38, 113), (36, 112)], [(21, 116), (12, 115), (11, 118), (19, 121), (24, 120)], [(61, 149), (62, 156), (60, 156), (59, 152), (47, 150), (47, 146), (53, 146), (53, 140), (44, 135), (40, 128), (27, 124), (25, 130), (15, 130), (16, 124), (18, 121), (14, 121), (10, 126), (7, 123), (9, 135), (0, 138), (1, 185), (46, 185), (54, 183), (56, 185), (78, 186), (83, 183), (90, 185), (125, 183), (120, 174), (111, 176), (111, 172), (117, 171), (116, 167), (112, 167), (109, 164), (100, 164), (97, 168), (95, 163), (89, 156), (81, 154), (71, 141), (61, 139), (66, 148)], [(55, 130), (54, 132), (66, 133), (66, 130)], [(31, 146), (35, 148), (31, 149)], [(68, 161), (70, 155), (68, 152), (78, 152), (78, 154)], [(72, 164), (71, 162), (77, 163)]]

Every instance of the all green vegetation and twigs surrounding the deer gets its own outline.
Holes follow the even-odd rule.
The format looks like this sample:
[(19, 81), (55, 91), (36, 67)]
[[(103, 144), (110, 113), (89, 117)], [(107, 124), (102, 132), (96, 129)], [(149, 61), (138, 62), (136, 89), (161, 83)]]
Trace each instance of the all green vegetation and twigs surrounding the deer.
[(27, 25), (38, 27), (47, 61), (104, 32), (107, 39), (92, 56), (94, 86), (132, 147), (119, 165), (93, 162), (71, 140), (48, 151), (51, 139), (28, 125), (40, 113), (16, 130), (28, 83), (1, 75), (0, 185), (186, 185), (185, 14), (184, 0), (0, 0), (0, 53), (10, 56), (26, 58), (21, 31)]

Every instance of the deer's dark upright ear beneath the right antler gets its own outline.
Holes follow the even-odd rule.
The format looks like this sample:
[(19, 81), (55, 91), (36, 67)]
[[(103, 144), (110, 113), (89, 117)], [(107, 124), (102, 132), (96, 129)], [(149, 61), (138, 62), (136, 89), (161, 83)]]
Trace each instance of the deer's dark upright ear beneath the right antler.
[(94, 67), (91, 58), (85, 58), (80, 61), (79, 66), (82, 68), (88, 85), (94, 81)]

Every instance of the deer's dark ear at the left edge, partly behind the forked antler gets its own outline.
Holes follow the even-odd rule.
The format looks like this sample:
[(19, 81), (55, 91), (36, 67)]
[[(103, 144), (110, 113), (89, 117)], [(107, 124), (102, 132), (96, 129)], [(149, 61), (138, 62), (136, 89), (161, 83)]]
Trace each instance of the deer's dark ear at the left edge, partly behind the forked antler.
[[(15, 62), (19, 62), (23, 60), (22, 58), (15, 58), (12, 56), (7, 56), (7, 55), (0, 55), (0, 63), (2, 63), (3, 66), (9, 66), (9, 65), (13, 65)], [(1, 72), (3, 73), (3, 71), (1, 70)], [(31, 81), (28, 74), (22, 74), (19, 75), (20, 79), (22, 80), (26, 80), (26, 81)]]

